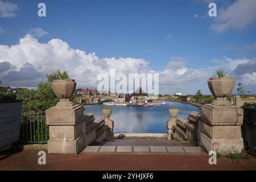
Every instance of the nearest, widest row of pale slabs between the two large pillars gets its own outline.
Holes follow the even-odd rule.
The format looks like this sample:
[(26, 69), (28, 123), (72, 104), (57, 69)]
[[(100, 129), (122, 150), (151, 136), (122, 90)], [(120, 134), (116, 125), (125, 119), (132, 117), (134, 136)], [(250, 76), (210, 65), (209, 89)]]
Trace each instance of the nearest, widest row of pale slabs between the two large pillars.
[(157, 154), (203, 154), (204, 151), (200, 147), (191, 146), (87, 146), (84, 153), (88, 152), (112, 152), (115, 154), (126, 152), (126, 153), (157, 153)]

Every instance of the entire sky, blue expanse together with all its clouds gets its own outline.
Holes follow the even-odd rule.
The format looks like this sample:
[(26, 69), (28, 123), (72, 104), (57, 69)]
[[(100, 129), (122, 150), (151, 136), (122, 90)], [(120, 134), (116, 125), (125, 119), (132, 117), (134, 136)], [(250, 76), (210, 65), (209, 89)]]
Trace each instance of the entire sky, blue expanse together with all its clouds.
[(208, 78), (225, 68), (255, 93), (255, 32), (255, 0), (0, 0), (1, 86), (35, 88), (68, 69), (77, 87), (97, 88), (115, 69), (158, 73), (162, 94), (209, 94)]

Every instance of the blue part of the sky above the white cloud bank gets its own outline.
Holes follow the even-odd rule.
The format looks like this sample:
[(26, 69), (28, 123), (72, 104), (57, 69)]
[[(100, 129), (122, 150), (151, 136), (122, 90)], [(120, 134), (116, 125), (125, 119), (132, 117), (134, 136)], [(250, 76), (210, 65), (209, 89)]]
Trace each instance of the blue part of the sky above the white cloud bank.
[[(230, 70), (233, 72), (238, 64), (247, 64), (255, 60), (256, 13), (250, 13), (253, 12), (250, 7), (255, 7), (255, 2), (250, 0), (247, 2), (242, 0), (2, 0), (1, 2), (16, 6), (10, 10), (13, 15), (9, 17), (5, 17), (3, 13), (6, 11), (0, 9), (0, 13), (2, 11), (0, 18), (1, 45), (20, 45), (20, 38), (24, 39), (27, 34), (31, 34), (40, 44), (47, 44), (52, 39), (58, 39), (67, 43), (70, 48), (85, 51), (86, 54), (95, 52), (99, 59), (105, 57), (143, 59), (148, 63), (147, 69), (155, 72), (164, 72), (170, 62), (180, 63), (179, 68), (188, 68), (200, 73), (201, 69), (204, 72), (208, 72), (208, 69), (214, 72), (213, 68), (215, 67), (221, 65), (225, 67), (227, 63), (236, 62), (236, 65)], [(45, 18), (40, 18), (37, 14), (37, 6), (40, 2), (46, 3), (47, 17)], [(216, 18), (208, 16), (209, 2), (217, 4), (218, 16)], [(247, 9), (245, 8), (245, 12), (242, 10), (240, 12), (239, 9), (234, 12), (240, 3)], [(247, 12), (250, 14), (246, 15)], [(239, 18), (241, 16), (244, 17)], [(224, 30), (221, 29), (222, 24), (225, 24)], [(40, 35), (37, 35), (38, 31), (35, 31), (35, 28), (38, 30), (40, 28)], [(2, 51), (2, 53), (4, 52)], [(36, 57), (38, 56), (40, 55)], [(10, 57), (0, 56), (0, 62), (7, 61), (15, 64), (8, 59)], [(46, 71), (29, 60), (24, 64), (31, 64), (31, 67), (38, 72)], [(22, 68), (22, 65), (14, 66), (16, 68), (13, 71), (16, 72)], [(230, 67), (227, 66), (227, 68)], [(251, 75), (247, 75), (247, 77), (252, 77), (252, 81), (255, 81), (254, 71), (256, 72), (256, 68), (248, 73)], [(194, 73), (194, 75), (196, 74)], [(164, 76), (164, 78), (166, 77)], [(242, 75), (237, 79), (242, 81), (247, 77)], [(0, 74), (0, 78), (6, 80), (5, 85), (18, 84), (7, 79), (3, 74), (2, 77)], [(36, 81), (38, 80), (40, 79)], [(205, 82), (200, 78), (196, 78), (196, 80), (193, 84), (196, 85), (195, 89), (185, 86), (185, 82), (184, 84), (174, 82), (175, 86), (163, 84), (165, 85), (163, 88), (166, 89), (165, 92), (170, 90), (172, 92), (179, 87), (184, 88), (188, 93), (193, 93), (200, 88), (200, 84)], [(24, 83), (24, 86), (35, 86), (36, 81), (33, 81), (32, 85)], [(85, 86), (86, 82), (88, 86), (93, 86), (89, 81), (85, 81), (81, 86)], [(245, 82), (244, 85), (251, 92), (256, 91), (256, 81), (255, 85), (251, 82)], [(206, 85), (201, 87), (200, 89), (208, 92)]]

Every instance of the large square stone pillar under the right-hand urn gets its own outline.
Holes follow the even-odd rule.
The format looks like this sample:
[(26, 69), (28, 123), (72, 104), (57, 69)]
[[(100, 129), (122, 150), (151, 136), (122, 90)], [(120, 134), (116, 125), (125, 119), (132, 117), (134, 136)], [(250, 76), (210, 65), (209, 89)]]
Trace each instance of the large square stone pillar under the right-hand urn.
[[(219, 102), (220, 101), (220, 102)], [(207, 152), (220, 154), (241, 152), (243, 140), (241, 125), (243, 109), (225, 104), (224, 100), (215, 100), (212, 104), (201, 107), (199, 118), (200, 146)]]

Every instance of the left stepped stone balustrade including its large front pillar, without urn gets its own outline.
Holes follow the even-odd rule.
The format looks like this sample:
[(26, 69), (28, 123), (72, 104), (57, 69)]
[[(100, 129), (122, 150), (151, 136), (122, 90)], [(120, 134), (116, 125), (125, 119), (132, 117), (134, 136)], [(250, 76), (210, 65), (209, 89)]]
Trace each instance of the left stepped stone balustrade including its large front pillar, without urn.
[(84, 110), (84, 106), (67, 98), (61, 98), (56, 106), (46, 110), (49, 154), (76, 155), (94, 141), (114, 139), (114, 122), (110, 118), (94, 122), (94, 115), (84, 114)]

